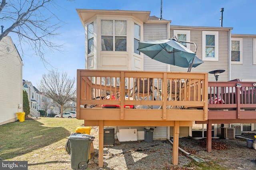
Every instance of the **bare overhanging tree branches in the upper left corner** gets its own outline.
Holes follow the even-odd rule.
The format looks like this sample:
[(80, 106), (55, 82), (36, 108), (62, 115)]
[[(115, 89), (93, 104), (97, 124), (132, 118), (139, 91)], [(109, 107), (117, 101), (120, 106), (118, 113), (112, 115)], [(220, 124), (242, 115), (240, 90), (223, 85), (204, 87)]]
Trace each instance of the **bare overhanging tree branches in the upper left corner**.
[[(18, 35), (22, 54), (24, 47), (28, 45), (43, 63), (48, 63), (44, 55), (49, 51), (60, 51), (61, 47), (52, 42), (52, 38), (58, 35), (56, 31), (60, 28), (61, 21), (50, 10), (51, 7), (56, 8), (58, 4), (54, 0), (2, 0), (0, 21), (8, 27), (3, 29), (1, 26), (0, 41), (9, 33), (15, 33)], [(53, 23), (53, 18), (58, 23)]]

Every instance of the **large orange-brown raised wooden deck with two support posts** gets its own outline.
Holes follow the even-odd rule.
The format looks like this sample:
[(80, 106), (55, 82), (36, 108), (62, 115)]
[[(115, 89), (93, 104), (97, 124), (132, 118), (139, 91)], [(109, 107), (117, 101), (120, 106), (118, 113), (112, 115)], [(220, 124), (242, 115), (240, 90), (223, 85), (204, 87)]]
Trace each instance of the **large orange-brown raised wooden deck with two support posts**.
[(99, 126), (100, 167), (104, 126), (174, 126), (177, 165), (179, 127), (206, 121), (207, 113), (208, 73), (77, 70), (76, 117)]

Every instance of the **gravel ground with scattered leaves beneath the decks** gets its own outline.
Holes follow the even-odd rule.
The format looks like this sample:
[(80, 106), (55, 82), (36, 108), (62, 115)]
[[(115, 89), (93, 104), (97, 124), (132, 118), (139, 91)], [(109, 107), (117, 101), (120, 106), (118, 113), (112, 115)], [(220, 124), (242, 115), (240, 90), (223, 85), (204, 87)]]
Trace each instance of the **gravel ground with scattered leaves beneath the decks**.
[[(156, 140), (152, 143), (136, 141), (104, 147), (103, 168), (98, 167), (98, 137), (96, 127), (91, 130), (94, 150), (88, 163), (90, 170), (199, 170), (196, 162), (179, 151), (178, 165), (172, 164), (172, 144), (170, 141)], [(253, 135), (244, 136), (253, 139)], [(205, 162), (214, 161), (227, 170), (254, 170), (256, 150), (247, 148), (246, 139), (213, 139), (211, 153), (206, 152), (206, 140), (180, 138), (179, 147), (202, 158)], [(190, 164), (188, 167), (184, 167)]]

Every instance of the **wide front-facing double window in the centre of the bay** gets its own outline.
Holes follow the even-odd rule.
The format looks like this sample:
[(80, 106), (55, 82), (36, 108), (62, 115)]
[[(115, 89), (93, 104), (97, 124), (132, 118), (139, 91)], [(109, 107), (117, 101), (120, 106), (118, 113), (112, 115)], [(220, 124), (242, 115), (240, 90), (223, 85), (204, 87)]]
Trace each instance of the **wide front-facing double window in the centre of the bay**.
[(126, 51), (126, 21), (101, 21), (101, 50)]

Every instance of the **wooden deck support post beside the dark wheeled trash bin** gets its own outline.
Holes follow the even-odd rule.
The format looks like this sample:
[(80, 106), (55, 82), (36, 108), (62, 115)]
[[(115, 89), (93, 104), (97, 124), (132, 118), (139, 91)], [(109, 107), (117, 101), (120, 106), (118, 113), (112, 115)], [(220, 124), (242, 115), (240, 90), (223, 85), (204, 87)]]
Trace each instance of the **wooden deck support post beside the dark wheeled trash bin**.
[(104, 121), (99, 121), (99, 167), (103, 167), (103, 139), (104, 139)]

